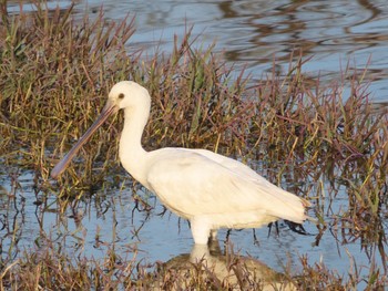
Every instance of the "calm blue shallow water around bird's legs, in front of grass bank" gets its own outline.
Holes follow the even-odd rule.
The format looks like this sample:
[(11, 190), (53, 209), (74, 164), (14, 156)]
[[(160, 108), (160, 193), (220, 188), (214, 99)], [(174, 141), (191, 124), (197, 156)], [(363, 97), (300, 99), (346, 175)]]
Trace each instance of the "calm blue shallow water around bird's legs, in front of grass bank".
[[(47, 196), (45, 202), (35, 205), (37, 201), (43, 201), (45, 195), (35, 189), (32, 180), (31, 173), (13, 174), (12, 178), (4, 173), (0, 176), (0, 242), (3, 259), (17, 258), (24, 250), (37, 252), (54, 247), (73, 258), (103, 260), (114, 249), (121, 258), (135, 259), (146, 264), (166, 262), (192, 251), (188, 224), (170, 211), (164, 212), (157, 199), (144, 193), (143, 188), (136, 194), (149, 196), (152, 209), (136, 209), (130, 178), (123, 178), (124, 187), (120, 187), (121, 190), (106, 184), (92, 197), (84, 198), (75, 207), (68, 207), (64, 214), (58, 212), (53, 193)], [(292, 273), (300, 271), (302, 256), (307, 256), (310, 264), (324, 262), (345, 278), (348, 272), (353, 272), (354, 262), (361, 276), (368, 274), (371, 262), (382, 268), (381, 257), (374, 243), (370, 243), (371, 250), (367, 251), (361, 248), (359, 239), (347, 243), (351, 236), (336, 231), (339, 226), (333, 220), (347, 208), (347, 194), (344, 187), (333, 199), (331, 186), (324, 185), (327, 197), (320, 198), (320, 204), (328, 230), (319, 243), (316, 243), (318, 232), (314, 224), (305, 224), (308, 236), (295, 233), (280, 224), (278, 233), (272, 229), (268, 235), (268, 228), (256, 229), (255, 233), (252, 229), (233, 230), (228, 239), (234, 251), (243, 257), (255, 258), (278, 272), (286, 268), (292, 268)], [(310, 197), (315, 195), (313, 190)], [(309, 215), (315, 216), (314, 210)], [(222, 248), (226, 237), (226, 230), (219, 231)]]

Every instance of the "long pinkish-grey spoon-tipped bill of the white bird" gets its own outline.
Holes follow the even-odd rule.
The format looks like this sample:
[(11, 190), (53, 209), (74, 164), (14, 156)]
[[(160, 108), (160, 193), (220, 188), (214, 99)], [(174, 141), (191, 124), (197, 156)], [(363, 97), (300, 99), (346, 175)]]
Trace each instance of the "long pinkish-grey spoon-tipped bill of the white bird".
[(85, 134), (78, 141), (78, 143), (70, 149), (70, 152), (55, 165), (51, 170), (51, 177), (57, 178), (59, 175), (67, 169), (69, 163), (72, 160), (73, 156), (80, 150), (81, 146), (89, 141), (92, 134), (106, 121), (106, 118), (116, 112), (118, 108), (114, 104), (108, 102), (103, 107), (100, 116), (95, 119), (92, 126), (85, 132)]

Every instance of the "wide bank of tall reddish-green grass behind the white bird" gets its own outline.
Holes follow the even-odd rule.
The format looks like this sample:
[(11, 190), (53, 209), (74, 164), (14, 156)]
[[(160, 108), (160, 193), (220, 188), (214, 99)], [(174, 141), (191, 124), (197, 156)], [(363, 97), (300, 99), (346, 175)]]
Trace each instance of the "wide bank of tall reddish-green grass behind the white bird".
[[(254, 83), (242, 72), (232, 80), (232, 69), (212, 46), (194, 48), (190, 30), (181, 42), (175, 39), (171, 54), (156, 52), (144, 62), (140, 52), (126, 53), (132, 21), (115, 25), (102, 13), (94, 21), (75, 21), (72, 9), (50, 15), (37, 4), (32, 15), (2, 15), (1, 155), (22, 155), (22, 166), (44, 180), (94, 119), (112, 84), (127, 79), (142, 83), (153, 97), (143, 139), (150, 148), (207, 147), (248, 157), (269, 153), (268, 160), (286, 157), (286, 163), (313, 166), (331, 160), (369, 163), (370, 169), (380, 170), (387, 166), (387, 114), (372, 114), (356, 74), (349, 96), (341, 93), (343, 84), (321, 87), (319, 80), (307, 82), (302, 60), (286, 76), (274, 73)], [(113, 128), (98, 133), (81, 155), (82, 173), (90, 175), (95, 159), (115, 160), (116, 135)]]

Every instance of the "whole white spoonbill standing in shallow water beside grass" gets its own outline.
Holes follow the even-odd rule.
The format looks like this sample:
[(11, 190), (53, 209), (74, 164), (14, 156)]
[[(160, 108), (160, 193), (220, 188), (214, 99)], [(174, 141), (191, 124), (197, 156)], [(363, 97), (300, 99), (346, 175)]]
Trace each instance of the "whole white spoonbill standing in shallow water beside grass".
[(258, 228), (278, 219), (302, 224), (308, 218), (307, 200), (270, 184), (235, 159), (206, 149), (144, 150), (141, 138), (151, 97), (146, 89), (131, 81), (112, 87), (101, 115), (57, 164), (51, 177), (57, 178), (95, 129), (121, 108), (123, 167), (171, 211), (190, 220), (195, 243), (206, 245), (210, 238), (215, 239), (219, 228)]

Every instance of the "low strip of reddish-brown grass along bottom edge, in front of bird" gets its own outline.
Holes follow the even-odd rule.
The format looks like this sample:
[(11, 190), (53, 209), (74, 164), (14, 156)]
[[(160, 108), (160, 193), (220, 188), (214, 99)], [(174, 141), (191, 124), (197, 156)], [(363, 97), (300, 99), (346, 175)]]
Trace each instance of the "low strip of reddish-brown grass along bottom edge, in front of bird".
[(324, 263), (308, 263), (300, 258), (303, 270), (278, 273), (256, 259), (233, 250), (193, 261), (181, 254), (162, 263), (149, 264), (121, 258), (111, 249), (100, 260), (72, 257), (47, 246), (30, 250), (2, 269), (1, 290), (384, 290), (386, 279), (371, 266), (361, 278), (357, 264), (348, 278)]

